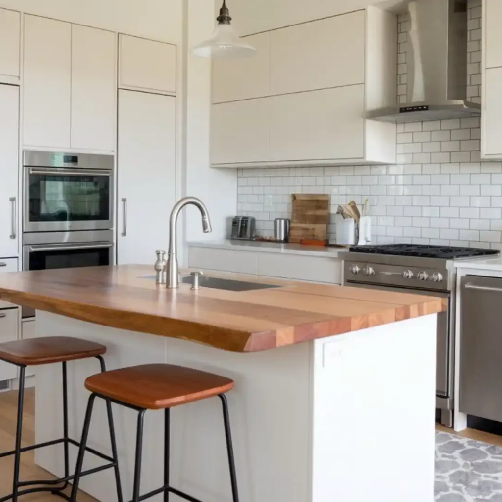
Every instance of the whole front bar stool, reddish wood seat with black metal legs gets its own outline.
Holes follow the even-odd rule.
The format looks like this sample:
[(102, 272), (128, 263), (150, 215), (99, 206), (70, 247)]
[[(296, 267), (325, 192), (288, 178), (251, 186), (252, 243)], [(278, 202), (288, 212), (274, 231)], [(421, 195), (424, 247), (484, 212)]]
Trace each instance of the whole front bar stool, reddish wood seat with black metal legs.
[[(89, 433), (92, 407), (96, 397), (112, 401), (138, 412), (136, 455), (134, 469), (133, 499), (131, 502), (145, 500), (158, 493), (164, 493), (168, 502), (169, 493), (174, 493), (191, 502), (201, 502), (169, 485), (169, 440), (170, 409), (194, 401), (218, 396), (223, 407), (226, 449), (230, 469), (232, 500), (238, 502), (237, 478), (233, 457), (230, 420), (225, 393), (233, 388), (233, 381), (213, 373), (172, 364), (145, 364), (132, 366), (104, 373), (98, 373), (85, 381), (85, 387), (91, 392), (85, 413), (80, 450), (77, 457), (71, 502), (76, 502), (80, 471)], [(147, 410), (164, 410), (164, 485), (161, 488), (140, 495), (141, 458), (143, 447), (143, 420)], [(118, 502), (122, 502), (122, 493), (117, 485)]]

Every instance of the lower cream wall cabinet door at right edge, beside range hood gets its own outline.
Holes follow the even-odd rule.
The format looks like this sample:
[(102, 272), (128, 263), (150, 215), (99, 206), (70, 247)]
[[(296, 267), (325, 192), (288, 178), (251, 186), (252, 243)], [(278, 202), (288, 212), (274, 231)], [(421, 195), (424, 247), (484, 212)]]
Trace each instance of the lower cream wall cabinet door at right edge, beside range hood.
[(482, 113), (482, 146), (483, 155), (502, 157), (502, 68), (486, 70), (483, 113)]

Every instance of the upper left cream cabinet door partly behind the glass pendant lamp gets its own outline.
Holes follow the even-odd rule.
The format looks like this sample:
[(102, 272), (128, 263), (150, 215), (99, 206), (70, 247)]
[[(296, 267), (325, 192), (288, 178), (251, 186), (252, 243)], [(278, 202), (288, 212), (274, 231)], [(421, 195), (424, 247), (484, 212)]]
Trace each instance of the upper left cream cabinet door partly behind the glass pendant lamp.
[(213, 103), (270, 94), (270, 32), (245, 40), (257, 49), (253, 57), (213, 61)]

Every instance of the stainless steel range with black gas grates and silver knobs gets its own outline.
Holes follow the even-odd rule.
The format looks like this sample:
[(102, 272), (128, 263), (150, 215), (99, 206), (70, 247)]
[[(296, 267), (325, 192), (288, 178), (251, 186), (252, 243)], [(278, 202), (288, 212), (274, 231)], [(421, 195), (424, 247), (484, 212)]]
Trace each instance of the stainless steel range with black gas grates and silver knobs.
[(453, 425), (455, 260), (497, 255), (496, 249), (421, 244), (353, 246), (343, 259), (343, 285), (439, 296), (448, 300), (438, 315), (436, 407), (441, 423)]

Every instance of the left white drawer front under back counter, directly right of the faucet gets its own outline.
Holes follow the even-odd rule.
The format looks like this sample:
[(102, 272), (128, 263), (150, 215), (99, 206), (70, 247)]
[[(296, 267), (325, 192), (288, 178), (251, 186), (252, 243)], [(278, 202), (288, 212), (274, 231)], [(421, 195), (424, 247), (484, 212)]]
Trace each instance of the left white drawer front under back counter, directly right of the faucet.
[(219, 270), (256, 275), (258, 272), (258, 253), (210, 247), (190, 247), (188, 266), (203, 271)]

